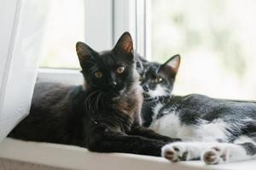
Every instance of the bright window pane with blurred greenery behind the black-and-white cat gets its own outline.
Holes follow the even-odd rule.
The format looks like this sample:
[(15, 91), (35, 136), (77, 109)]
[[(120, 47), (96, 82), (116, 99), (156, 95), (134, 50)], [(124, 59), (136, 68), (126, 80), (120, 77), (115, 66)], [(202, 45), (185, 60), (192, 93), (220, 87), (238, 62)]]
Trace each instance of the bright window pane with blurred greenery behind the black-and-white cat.
[(256, 99), (256, 1), (151, 3), (152, 59), (182, 56), (175, 94)]

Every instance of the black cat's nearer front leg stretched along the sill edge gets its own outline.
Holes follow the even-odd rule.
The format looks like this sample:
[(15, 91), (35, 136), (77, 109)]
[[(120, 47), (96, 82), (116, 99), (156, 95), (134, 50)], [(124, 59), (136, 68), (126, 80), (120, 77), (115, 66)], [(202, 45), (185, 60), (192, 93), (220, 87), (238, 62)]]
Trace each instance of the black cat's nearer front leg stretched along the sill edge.
[(142, 136), (127, 135), (104, 130), (90, 132), (85, 147), (96, 152), (123, 152), (148, 156), (160, 156), (164, 142)]

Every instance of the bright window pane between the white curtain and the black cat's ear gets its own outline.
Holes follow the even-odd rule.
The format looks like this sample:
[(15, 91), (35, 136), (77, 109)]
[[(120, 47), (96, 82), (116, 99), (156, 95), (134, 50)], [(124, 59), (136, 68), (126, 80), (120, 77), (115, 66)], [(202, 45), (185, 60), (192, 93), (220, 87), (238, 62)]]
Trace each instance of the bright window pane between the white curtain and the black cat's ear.
[(79, 68), (75, 44), (84, 41), (84, 0), (49, 1), (41, 67)]

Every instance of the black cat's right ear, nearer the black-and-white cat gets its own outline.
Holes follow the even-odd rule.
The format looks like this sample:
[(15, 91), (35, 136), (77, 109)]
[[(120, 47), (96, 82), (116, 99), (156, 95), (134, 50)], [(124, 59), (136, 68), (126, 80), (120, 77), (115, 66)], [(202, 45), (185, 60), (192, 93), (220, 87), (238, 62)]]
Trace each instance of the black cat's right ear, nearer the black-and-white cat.
[(122, 50), (126, 54), (133, 54), (133, 42), (131, 38), (131, 34), (129, 32), (125, 32), (119, 37), (119, 41), (115, 44), (114, 50), (119, 51)]

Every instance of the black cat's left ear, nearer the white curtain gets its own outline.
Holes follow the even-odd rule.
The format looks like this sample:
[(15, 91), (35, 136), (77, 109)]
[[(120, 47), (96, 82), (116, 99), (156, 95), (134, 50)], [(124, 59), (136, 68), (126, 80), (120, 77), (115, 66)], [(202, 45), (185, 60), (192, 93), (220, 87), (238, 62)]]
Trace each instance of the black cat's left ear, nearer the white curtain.
[(79, 62), (82, 63), (86, 60), (89, 60), (96, 51), (86, 45), (84, 42), (77, 42), (76, 44), (77, 54), (79, 56)]

